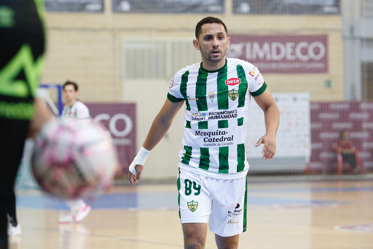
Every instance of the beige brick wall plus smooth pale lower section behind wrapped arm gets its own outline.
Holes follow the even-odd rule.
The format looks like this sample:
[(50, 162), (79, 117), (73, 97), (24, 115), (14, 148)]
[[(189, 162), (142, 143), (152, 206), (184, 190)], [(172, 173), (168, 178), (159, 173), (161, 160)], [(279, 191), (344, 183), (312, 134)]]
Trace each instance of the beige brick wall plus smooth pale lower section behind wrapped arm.
[[(229, 10), (231, 1), (226, 2)], [(137, 37), (192, 40), (195, 24), (205, 15), (122, 14), (112, 13), (111, 9), (110, 1), (106, 0), (106, 11), (101, 14), (47, 13), (47, 56), (42, 82), (75, 80), (85, 102), (135, 102), (139, 148), (166, 99), (169, 79), (122, 80), (123, 40)], [(264, 78), (272, 92), (309, 91), (311, 100), (342, 100), (340, 16), (216, 16), (225, 21), (230, 33), (328, 34), (328, 73), (264, 74)], [(324, 87), (326, 79), (334, 81), (333, 88)], [(167, 136), (150, 154), (144, 178), (176, 177), (182, 135), (182, 112), (179, 112)]]

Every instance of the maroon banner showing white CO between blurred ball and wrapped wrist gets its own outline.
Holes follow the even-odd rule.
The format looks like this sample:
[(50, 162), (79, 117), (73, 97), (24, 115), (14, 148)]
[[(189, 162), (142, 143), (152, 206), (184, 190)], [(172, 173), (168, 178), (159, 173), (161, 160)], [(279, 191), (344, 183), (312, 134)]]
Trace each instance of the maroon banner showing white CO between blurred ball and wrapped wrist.
[(136, 156), (135, 103), (88, 103), (94, 122), (103, 124), (112, 134), (117, 148), (122, 174)]

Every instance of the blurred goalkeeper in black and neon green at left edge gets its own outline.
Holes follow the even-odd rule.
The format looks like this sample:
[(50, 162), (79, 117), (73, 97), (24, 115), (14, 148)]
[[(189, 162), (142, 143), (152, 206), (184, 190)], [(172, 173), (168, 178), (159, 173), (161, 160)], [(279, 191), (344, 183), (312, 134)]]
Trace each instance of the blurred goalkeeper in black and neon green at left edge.
[(8, 248), (7, 213), (15, 211), (14, 181), (26, 136), (51, 114), (35, 91), (43, 65), (42, 0), (0, 1), (0, 248)]

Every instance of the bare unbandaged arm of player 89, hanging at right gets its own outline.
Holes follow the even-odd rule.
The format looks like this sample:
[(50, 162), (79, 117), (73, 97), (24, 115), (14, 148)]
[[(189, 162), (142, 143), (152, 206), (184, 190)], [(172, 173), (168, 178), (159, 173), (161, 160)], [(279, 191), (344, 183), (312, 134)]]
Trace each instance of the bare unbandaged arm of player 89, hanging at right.
[(266, 123), (266, 134), (259, 138), (255, 146), (264, 144), (261, 152), (263, 159), (272, 159), (276, 153), (276, 133), (279, 127), (280, 112), (268, 88), (259, 96), (253, 96), (253, 98), (263, 110)]

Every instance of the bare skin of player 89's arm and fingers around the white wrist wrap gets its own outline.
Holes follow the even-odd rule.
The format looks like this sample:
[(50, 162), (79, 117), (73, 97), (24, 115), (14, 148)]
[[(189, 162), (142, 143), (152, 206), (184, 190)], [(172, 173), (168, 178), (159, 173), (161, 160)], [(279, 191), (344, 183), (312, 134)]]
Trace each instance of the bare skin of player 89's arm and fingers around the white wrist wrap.
[[(142, 145), (145, 150), (149, 152), (150, 150), (154, 149), (154, 147), (159, 143), (160, 140), (162, 140), (162, 138), (170, 128), (176, 113), (178, 113), (183, 104), (184, 101), (171, 102), (169, 99), (166, 99), (166, 102), (164, 102), (162, 109), (154, 118), (148, 136), (145, 138), (144, 144)], [(128, 180), (131, 185), (135, 185), (138, 181), (140, 181), (140, 175), (142, 170), (144, 169), (144, 165), (137, 164), (134, 165), (134, 167), (136, 170), (135, 174), (128, 172)]]

